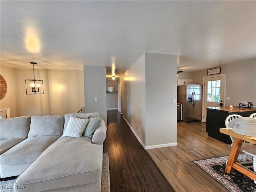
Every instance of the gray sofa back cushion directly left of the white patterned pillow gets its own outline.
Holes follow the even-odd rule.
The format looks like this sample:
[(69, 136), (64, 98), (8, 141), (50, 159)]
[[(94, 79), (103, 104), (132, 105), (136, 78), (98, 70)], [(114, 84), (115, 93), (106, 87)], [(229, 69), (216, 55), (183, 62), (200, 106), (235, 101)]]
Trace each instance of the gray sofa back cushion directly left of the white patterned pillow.
[(28, 137), (62, 135), (64, 116), (32, 116)]

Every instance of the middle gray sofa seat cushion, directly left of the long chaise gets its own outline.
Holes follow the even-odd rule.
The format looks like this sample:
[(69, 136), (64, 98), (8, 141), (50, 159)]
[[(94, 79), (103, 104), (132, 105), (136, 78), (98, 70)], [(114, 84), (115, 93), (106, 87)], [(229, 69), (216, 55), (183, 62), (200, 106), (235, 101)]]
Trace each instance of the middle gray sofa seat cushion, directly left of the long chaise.
[(18, 143), (0, 158), (1, 166), (32, 163), (38, 156), (60, 136), (30, 137)]

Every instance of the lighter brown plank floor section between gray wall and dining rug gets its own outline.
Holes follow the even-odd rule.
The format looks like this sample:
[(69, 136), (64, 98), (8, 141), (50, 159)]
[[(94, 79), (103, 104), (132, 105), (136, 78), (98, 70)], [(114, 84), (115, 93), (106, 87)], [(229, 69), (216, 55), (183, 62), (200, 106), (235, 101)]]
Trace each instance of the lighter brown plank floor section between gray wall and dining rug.
[(208, 137), (206, 123), (178, 122), (178, 146), (147, 150), (176, 192), (226, 192), (192, 161), (226, 156), (231, 146)]

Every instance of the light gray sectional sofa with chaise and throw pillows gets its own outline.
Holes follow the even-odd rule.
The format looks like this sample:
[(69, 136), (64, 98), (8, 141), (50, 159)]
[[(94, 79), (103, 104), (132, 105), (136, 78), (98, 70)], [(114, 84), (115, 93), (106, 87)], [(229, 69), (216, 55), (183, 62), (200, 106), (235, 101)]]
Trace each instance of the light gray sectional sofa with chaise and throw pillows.
[(19, 175), (14, 192), (100, 191), (106, 125), (99, 113), (16, 117), (0, 128), (0, 176)]

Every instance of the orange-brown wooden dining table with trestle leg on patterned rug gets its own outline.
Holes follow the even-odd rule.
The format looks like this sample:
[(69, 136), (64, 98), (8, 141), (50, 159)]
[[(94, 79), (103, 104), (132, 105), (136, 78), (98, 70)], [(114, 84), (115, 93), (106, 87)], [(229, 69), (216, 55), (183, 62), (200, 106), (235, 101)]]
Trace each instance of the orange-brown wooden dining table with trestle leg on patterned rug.
[(225, 171), (228, 174), (232, 174), (234, 172), (234, 169), (236, 169), (239, 172), (241, 172), (242, 174), (244, 174), (244, 175), (248, 176), (249, 178), (251, 178), (252, 180), (256, 181), (256, 174), (246, 170), (245, 168), (243, 168), (236, 162), (237, 158), (238, 158), (238, 154), (240, 152), (240, 148), (242, 146), (242, 143), (244, 141), (246, 141), (251, 144), (256, 144), (256, 137), (250, 137), (250, 136), (245, 136), (242, 134), (235, 133), (232, 131), (232, 128), (221, 128), (220, 132), (234, 137), (234, 142), (233, 142), (232, 148), (230, 150), (230, 154), (228, 157), (228, 162), (226, 164)]

